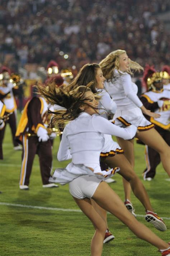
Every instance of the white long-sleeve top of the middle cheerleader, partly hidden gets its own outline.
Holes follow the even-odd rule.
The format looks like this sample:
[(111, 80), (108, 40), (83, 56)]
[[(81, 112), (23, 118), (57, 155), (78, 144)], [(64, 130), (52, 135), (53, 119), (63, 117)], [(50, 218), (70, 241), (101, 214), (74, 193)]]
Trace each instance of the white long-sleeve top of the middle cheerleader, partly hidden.
[(97, 89), (96, 91), (99, 93), (99, 96), (101, 96), (98, 104), (100, 115), (107, 118), (108, 113), (114, 114), (117, 106), (113, 99), (110, 97), (109, 93), (105, 89)]

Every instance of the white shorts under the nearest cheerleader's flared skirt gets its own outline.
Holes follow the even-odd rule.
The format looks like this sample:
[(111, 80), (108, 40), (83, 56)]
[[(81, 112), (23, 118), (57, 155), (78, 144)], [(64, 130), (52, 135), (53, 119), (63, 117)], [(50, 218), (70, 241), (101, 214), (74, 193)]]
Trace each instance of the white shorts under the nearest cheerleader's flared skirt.
[(70, 194), (78, 199), (91, 198), (101, 181), (101, 179), (95, 176), (79, 176), (69, 182)]

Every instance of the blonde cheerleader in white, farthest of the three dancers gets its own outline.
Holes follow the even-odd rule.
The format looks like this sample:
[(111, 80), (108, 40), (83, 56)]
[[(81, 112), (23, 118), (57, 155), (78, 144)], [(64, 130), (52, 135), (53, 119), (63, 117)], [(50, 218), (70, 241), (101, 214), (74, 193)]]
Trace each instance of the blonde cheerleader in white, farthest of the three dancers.
[[(154, 129), (154, 124), (151, 124), (143, 116), (145, 114), (157, 118), (160, 115), (150, 112), (143, 106), (136, 95), (137, 85), (132, 83), (131, 75), (133, 73), (131, 69), (140, 71), (143, 68), (137, 62), (131, 61), (124, 50), (111, 52), (99, 65), (106, 78), (104, 87), (117, 104), (117, 110), (113, 118), (115, 125), (119, 127), (127, 127), (130, 124), (136, 125), (138, 127), (137, 138), (160, 154), (163, 167), (167, 174), (170, 175), (169, 146)], [(122, 138), (117, 138), (117, 140), (124, 150), (126, 158), (134, 167), (134, 139), (123, 140)], [(123, 185), (126, 194), (124, 203), (129, 210), (133, 211), (130, 184), (123, 179)]]

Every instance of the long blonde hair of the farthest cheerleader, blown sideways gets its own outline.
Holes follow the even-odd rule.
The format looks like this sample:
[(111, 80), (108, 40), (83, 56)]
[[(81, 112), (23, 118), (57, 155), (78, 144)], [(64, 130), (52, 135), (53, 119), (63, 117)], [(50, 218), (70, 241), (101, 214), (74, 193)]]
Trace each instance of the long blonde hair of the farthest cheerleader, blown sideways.
[[(123, 53), (126, 53), (124, 50), (116, 50), (110, 52), (109, 55), (105, 57), (102, 61), (100, 61), (99, 66), (103, 71), (103, 75), (107, 80), (112, 80), (114, 77), (114, 70), (117, 69), (119, 72), (119, 56)], [(143, 70), (142, 66), (135, 61), (129, 59), (129, 70), (126, 71), (128, 74), (132, 75), (133, 71), (141, 71)], [(121, 74), (119, 72), (119, 74)]]

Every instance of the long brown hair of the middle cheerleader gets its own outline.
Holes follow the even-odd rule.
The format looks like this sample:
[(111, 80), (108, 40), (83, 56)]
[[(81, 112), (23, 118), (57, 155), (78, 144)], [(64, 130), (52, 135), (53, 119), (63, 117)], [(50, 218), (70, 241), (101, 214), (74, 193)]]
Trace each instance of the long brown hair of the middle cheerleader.
[(75, 79), (70, 83), (70, 88), (74, 89), (77, 86), (88, 85), (91, 83), (90, 89), (93, 93), (96, 93), (98, 82), (96, 79), (97, 69), (100, 69), (99, 64), (85, 64), (76, 75)]

